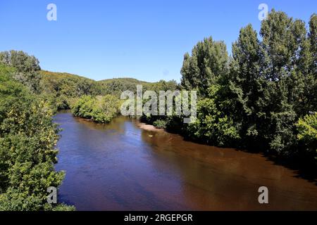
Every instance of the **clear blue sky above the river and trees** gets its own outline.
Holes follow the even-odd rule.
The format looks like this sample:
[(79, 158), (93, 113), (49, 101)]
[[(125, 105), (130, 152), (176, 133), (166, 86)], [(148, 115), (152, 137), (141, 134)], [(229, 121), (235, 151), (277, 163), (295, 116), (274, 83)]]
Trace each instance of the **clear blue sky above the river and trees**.
[[(46, 19), (50, 3), (57, 21)], [(50, 0), (0, 2), (0, 51), (23, 50), (43, 70), (100, 80), (135, 77), (180, 81), (185, 52), (204, 37), (224, 40), (231, 51), (241, 27), (259, 32), (259, 4), (306, 23), (316, 0)]]

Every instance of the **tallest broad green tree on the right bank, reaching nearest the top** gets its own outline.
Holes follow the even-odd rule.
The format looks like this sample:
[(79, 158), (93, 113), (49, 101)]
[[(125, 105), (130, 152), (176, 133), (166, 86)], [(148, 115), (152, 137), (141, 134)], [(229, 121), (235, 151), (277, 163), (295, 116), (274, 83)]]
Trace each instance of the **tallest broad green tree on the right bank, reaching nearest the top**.
[(304, 93), (306, 29), (301, 20), (272, 11), (261, 25), (263, 75), (266, 77), (266, 115), (270, 118), (266, 138), (272, 150), (291, 154), (296, 144), (294, 123), (302, 110), (297, 106)]

